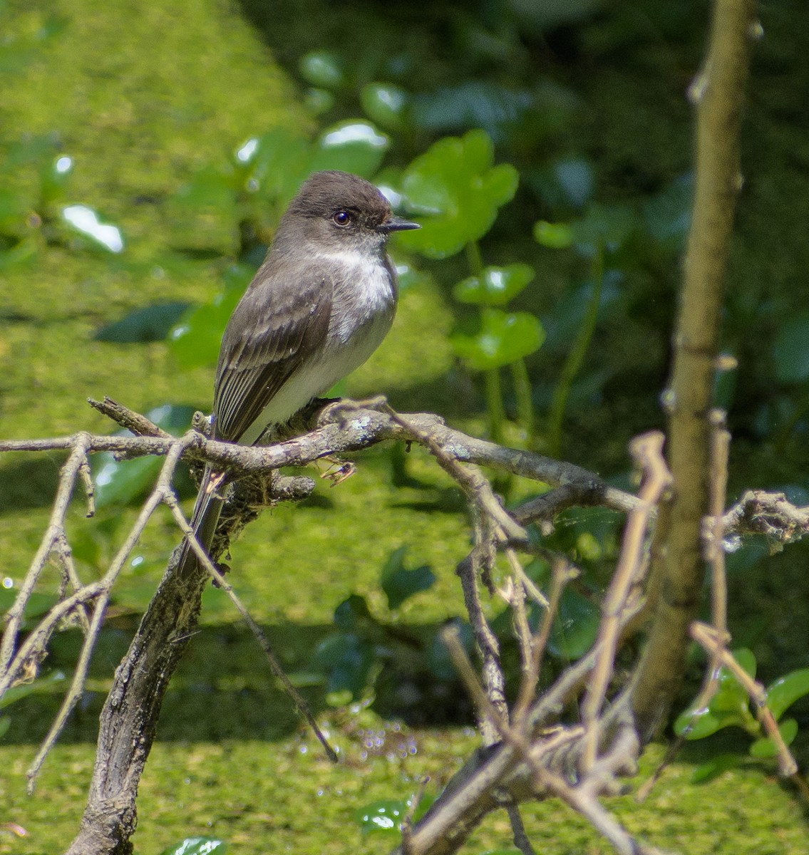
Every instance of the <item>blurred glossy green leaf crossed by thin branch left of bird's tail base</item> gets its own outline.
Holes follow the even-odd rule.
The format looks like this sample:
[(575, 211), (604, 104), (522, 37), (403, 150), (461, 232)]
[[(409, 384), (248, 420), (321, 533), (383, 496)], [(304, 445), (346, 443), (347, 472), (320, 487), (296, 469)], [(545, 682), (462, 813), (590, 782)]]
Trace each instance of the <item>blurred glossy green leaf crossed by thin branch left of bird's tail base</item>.
[[(159, 428), (168, 433), (182, 433), (191, 427), (193, 407), (164, 404), (146, 413)], [(116, 436), (128, 436), (128, 431), (119, 431)], [(93, 480), (96, 484), (96, 507), (111, 504), (129, 504), (141, 498), (154, 486), (162, 466), (162, 458), (155, 456), (136, 457), (134, 460), (115, 460), (108, 452), (92, 458)]]

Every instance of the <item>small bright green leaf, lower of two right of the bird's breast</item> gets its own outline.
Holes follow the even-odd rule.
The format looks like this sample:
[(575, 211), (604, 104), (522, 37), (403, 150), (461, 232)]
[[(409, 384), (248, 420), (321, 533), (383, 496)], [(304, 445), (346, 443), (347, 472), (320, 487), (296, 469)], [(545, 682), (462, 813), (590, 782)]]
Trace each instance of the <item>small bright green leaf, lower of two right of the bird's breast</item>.
[(479, 333), (453, 333), (450, 337), (455, 353), (475, 371), (517, 362), (538, 350), (544, 340), (545, 330), (534, 315), (499, 309), (487, 310)]

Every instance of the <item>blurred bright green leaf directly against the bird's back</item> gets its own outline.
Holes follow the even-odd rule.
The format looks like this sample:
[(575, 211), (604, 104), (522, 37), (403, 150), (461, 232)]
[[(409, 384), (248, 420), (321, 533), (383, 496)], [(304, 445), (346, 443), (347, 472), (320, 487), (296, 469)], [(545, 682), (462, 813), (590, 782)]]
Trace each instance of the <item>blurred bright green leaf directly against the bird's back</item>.
[(221, 336), (255, 268), (233, 264), (225, 273), (225, 287), (210, 303), (192, 306), (168, 333), (168, 342), (181, 368), (216, 365)]

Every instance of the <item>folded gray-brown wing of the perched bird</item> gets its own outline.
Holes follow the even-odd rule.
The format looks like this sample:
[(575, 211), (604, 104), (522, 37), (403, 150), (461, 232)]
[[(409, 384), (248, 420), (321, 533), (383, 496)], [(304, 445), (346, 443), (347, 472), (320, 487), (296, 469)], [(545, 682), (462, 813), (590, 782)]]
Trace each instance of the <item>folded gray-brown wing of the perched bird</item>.
[[(260, 269), (227, 324), (214, 386), (214, 433), (238, 442), (328, 330), (328, 268)], [(292, 415), (292, 414), (290, 414)]]

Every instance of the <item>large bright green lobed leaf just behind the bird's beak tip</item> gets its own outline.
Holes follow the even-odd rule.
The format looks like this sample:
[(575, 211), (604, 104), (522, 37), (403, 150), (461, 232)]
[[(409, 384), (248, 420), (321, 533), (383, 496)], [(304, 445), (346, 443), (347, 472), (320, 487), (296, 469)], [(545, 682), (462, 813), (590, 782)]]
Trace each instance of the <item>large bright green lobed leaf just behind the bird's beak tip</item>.
[(416, 157), (405, 169), (402, 192), (409, 209), (428, 219), (422, 229), (403, 233), (401, 245), (446, 258), (486, 234), (517, 192), (517, 170), (493, 162), (492, 140), (480, 130), (440, 139)]

